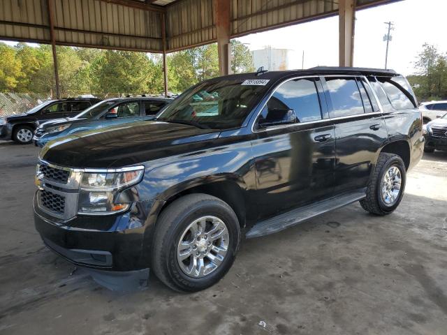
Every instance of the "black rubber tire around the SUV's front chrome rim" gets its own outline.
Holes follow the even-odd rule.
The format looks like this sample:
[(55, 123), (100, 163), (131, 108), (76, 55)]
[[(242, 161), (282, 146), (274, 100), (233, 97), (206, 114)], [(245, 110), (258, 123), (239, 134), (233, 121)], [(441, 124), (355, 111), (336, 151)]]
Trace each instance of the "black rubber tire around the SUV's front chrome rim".
[[(214, 271), (193, 278), (177, 262), (177, 244), (191, 222), (202, 216), (215, 216), (228, 229), (228, 251)], [(230, 269), (240, 244), (237, 216), (226, 202), (206, 194), (190, 194), (175, 200), (164, 209), (156, 222), (152, 248), (152, 269), (169, 288), (179, 292), (196, 292), (217, 283)]]

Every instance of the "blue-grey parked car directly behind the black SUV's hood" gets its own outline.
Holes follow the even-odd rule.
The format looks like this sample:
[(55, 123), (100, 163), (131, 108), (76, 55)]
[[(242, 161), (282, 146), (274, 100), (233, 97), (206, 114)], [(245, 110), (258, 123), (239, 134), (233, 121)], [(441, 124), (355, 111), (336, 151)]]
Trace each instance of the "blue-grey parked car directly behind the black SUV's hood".
[(34, 144), (43, 147), (47, 142), (66, 135), (152, 119), (171, 101), (173, 101), (171, 98), (144, 96), (101, 101), (75, 117), (56, 119), (41, 124), (34, 133)]

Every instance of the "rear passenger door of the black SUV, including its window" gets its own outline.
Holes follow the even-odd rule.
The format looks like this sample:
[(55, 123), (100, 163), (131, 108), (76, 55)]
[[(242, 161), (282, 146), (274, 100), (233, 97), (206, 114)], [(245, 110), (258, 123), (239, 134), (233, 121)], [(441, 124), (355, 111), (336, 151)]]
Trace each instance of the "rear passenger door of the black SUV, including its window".
[(327, 76), (322, 81), (335, 126), (334, 193), (365, 188), (388, 140), (379, 105), (365, 77)]

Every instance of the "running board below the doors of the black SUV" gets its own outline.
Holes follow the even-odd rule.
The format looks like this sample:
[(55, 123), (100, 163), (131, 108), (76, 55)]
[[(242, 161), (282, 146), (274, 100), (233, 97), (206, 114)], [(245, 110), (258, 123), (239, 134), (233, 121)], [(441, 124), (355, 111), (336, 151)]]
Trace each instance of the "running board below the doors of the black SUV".
[(280, 232), (293, 225), (298, 225), (298, 223), (301, 223), (302, 221), (309, 220), (309, 218), (314, 218), (315, 216), (325, 214), (333, 209), (344, 207), (346, 204), (352, 204), (353, 202), (362, 200), (365, 196), (365, 191), (344, 193), (342, 195), (337, 195), (337, 197), (328, 198), (298, 209), (293, 209), (287, 213), (279, 214), (273, 218), (268, 218), (265, 221), (256, 223), (253, 228), (247, 232), (245, 237), (251, 239), (253, 237), (261, 237), (273, 234), (274, 232)]

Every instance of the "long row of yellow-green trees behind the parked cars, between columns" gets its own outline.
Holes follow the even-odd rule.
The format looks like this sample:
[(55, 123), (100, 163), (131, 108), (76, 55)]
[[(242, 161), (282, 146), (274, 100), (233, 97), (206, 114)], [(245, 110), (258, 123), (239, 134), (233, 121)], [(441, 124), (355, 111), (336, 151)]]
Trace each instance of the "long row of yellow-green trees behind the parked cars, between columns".
[[(248, 48), (233, 40), (233, 72), (254, 70)], [(217, 45), (168, 54), (168, 90), (180, 93), (219, 75)], [(57, 46), (62, 96), (91, 93), (163, 92), (163, 58), (159, 54)], [(0, 91), (54, 92), (50, 45), (30, 47), (0, 43)]]

